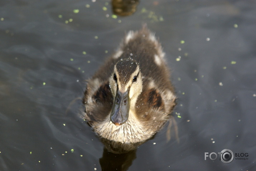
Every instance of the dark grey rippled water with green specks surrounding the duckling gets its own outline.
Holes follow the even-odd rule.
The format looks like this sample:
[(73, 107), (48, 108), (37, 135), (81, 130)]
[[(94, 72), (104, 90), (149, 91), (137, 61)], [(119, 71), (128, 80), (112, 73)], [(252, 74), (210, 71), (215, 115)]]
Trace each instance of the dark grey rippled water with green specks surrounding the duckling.
[[(1, 1), (0, 170), (94, 171), (122, 158), (130, 171), (256, 170), (255, 14), (253, 0), (141, 0), (117, 19), (107, 0)], [(172, 68), (179, 143), (165, 127), (128, 156), (102, 157), (78, 116), (84, 80), (142, 23)], [(223, 149), (248, 160), (204, 160)]]

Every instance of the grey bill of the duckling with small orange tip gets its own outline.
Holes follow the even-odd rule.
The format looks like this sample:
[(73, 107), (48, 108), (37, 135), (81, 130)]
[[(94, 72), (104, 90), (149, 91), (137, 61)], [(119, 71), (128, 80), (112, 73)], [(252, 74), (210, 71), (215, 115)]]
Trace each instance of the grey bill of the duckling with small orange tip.
[(115, 101), (112, 106), (110, 120), (116, 126), (124, 124), (129, 116), (130, 111), (130, 97), (129, 90), (124, 93), (117, 90)]

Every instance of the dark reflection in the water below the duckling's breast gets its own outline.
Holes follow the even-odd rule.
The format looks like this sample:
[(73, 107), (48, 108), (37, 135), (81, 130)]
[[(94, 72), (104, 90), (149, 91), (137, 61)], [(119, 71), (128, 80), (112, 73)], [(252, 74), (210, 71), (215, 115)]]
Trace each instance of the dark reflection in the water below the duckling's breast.
[(136, 150), (124, 154), (113, 154), (104, 149), (100, 165), (102, 171), (125, 171), (128, 170), (134, 159), (136, 159)]

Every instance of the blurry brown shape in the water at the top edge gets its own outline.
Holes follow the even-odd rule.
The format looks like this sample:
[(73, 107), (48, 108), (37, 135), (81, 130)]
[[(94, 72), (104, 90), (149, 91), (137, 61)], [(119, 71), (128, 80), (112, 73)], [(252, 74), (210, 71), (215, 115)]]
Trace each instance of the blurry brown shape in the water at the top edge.
[(113, 13), (120, 16), (132, 15), (136, 11), (139, 0), (112, 0)]

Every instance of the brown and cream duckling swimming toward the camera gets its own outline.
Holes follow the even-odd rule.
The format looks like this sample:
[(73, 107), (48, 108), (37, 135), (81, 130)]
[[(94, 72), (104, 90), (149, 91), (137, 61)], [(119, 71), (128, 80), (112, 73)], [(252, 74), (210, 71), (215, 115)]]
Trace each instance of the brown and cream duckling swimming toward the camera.
[(175, 99), (163, 48), (143, 25), (87, 80), (82, 117), (108, 151), (120, 154), (154, 137), (170, 120)]

